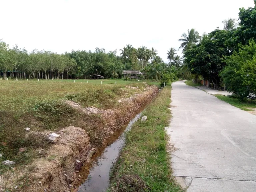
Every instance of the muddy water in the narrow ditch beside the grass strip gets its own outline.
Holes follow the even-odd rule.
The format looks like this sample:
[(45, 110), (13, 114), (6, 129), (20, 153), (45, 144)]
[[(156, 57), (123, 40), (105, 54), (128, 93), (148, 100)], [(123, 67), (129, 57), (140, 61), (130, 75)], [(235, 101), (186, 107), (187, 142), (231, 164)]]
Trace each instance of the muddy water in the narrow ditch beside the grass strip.
[(119, 129), (109, 140), (107, 147), (99, 148), (92, 157), (92, 165), (82, 167), (81, 180), (85, 182), (79, 186), (78, 192), (104, 192), (109, 186), (110, 168), (117, 160), (120, 149), (122, 149), (125, 132), (130, 130), (132, 124), (141, 117), (137, 114), (129, 124)]

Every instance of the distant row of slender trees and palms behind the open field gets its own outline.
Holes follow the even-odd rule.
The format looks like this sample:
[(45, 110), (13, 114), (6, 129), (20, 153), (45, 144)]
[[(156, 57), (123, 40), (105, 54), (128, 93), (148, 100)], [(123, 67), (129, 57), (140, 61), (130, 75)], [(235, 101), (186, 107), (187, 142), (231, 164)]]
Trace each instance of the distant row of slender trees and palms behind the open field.
[(72, 50), (71, 53), (57, 54), (35, 49), (28, 53), (17, 45), (10, 48), (9, 44), (1, 40), (0, 76), (15, 80), (88, 78), (93, 74), (121, 78), (123, 70), (140, 70), (146, 78), (159, 80), (164, 73), (176, 72), (183, 64), (182, 58), (176, 55), (173, 48), (167, 52), (169, 63), (158, 56), (154, 47), (148, 49), (142, 46), (136, 49), (128, 44), (120, 51), (120, 56), (117, 50), (106, 53), (105, 49), (100, 48), (94, 52)]

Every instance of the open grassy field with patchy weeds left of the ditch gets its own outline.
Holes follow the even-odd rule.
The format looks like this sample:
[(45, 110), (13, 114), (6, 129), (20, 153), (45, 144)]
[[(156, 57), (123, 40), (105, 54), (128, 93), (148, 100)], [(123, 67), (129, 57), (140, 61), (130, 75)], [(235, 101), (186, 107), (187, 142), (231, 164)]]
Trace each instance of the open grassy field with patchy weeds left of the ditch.
[[(0, 162), (12, 160), (14, 166), (26, 165), (33, 158), (43, 154), (36, 153), (36, 149), (49, 146), (40, 134), (44, 130), (57, 131), (66, 126), (78, 126), (86, 130), (91, 142), (93, 137), (100, 140), (100, 133), (94, 133), (98, 124), (98, 115), (85, 115), (67, 106), (63, 99), (72, 100), (82, 107), (94, 106), (99, 109), (118, 107), (119, 98), (129, 97), (138, 92), (136, 89), (122, 89), (129, 84), (144, 89), (141, 82), (104, 80), (41, 80), (41, 81), (0, 81)], [(96, 85), (97, 84), (97, 85)], [(112, 101), (111, 101), (112, 100)], [(29, 127), (29, 135), (24, 130)], [(31, 132), (38, 131), (38, 134)], [(26, 148), (19, 153), (20, 148)], [(22, 168), (22, 166), (20, 166)], [(0, 164), (0, 174), (10, 167)]]

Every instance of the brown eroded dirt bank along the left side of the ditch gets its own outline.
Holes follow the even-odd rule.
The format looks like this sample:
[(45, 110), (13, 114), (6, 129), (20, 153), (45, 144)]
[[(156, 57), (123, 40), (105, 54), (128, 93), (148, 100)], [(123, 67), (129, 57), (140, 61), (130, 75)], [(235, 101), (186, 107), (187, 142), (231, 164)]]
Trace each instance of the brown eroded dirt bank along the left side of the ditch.
[[(125, 89), (131, 88), (127, 86)], [(10, 169), (0, 176), (0, 191), (69, 191), (64, 172), (72, 188), (72, 181), (77, 178), (76, 171), (89, 161), (87, 156), (90, 150), (104, 145), (104, 141), (115, 130), (129, 121), (133, 114), (158, 93), (156, 86), (147, 86), (145, 89), (129, 98), (119, 100), (116, 108), (107, 110), (82, 108), (73, 101), (65, 101), (83, 114), (80, 122), (76, 123), (79, 127), (69, 126), (55, 132), (60, 135), (56, 143), (51, 144), (48, 150), (35, 151), (42, 154), (41, 158), (23, 169)], [(49, 133), (53, 132), (45, 131), (43, 135)]]

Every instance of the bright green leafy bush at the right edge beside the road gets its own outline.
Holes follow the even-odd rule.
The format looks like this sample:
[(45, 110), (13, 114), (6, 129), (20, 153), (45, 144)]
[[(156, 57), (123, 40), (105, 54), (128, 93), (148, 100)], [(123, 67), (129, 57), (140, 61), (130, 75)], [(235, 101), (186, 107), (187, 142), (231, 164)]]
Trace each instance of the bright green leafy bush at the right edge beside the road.
[(249, 45), (239, 45), (239, 52), (227, 57), (227, 66), (220, 76), (227, 86), (227, 90), (236, 94), (241, 101), (250, 92), (256, 93), (256, 43), (249, 41)]

